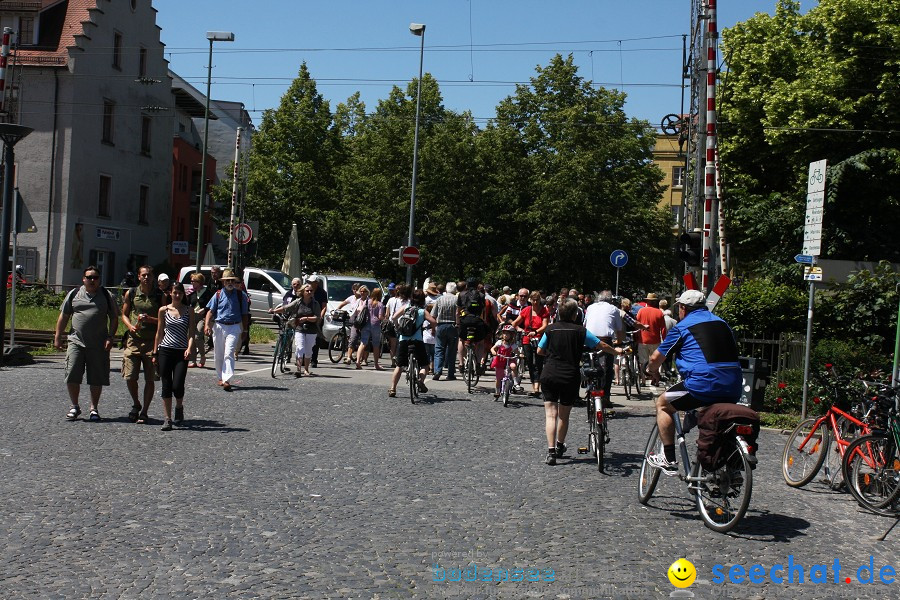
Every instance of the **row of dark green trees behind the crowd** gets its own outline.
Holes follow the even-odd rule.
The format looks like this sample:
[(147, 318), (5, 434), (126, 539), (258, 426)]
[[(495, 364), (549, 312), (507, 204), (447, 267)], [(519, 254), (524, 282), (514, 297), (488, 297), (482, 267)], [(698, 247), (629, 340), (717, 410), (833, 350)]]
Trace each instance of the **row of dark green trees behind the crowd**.
[[(306, 65), (254, 138), (248, 218), (262, 262), (280, 264), (292, 222), (310, 269), (401, 278), (408, 235), (417, 80), (373, 111), (354, 94), (334, 112)], [(443, 105), (422, 78), (415, 197), (417, 269), (496, 284), (609, 285), (608, 257), (629, 250), (623, 284), (667, 283), (673, 241), (657, 208), (655, 138), (626, 117), (624, 95), (591, 85), (572, 57), (538, 67), (484, 129)]]

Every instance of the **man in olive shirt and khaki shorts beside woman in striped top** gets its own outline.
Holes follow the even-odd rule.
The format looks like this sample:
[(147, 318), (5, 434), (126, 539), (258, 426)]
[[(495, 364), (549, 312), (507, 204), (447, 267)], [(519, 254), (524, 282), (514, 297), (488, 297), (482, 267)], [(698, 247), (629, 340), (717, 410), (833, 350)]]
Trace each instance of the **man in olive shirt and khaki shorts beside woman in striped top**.
[[(156, 338), (157, 315), (163, 306), (162, 292), (153, 280), (153, 267), (144, 265), (138, 269), (140, 285), (125, 292), (122, 303), (122, 322), (128, 330), (125, 341), (125, 352), (122, 354), (122, 377), (131, 394), (131, 412), (128, 418), (132, 423), (146, 423), (147, 410), (153, 401), (156, 389), (155, 381), (159, 378), (153, 365), (153, 341)], [(138, 379), (141, 369), (144, 371), (143, 403), (138, 400)]]

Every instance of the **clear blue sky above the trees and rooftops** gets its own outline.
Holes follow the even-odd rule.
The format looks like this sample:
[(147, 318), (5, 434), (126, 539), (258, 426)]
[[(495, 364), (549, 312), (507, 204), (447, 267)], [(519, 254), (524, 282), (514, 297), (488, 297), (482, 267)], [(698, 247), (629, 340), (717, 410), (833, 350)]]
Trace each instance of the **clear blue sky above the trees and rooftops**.
[[(719, 0), (719, 29), (776, 0)], [(807, 10), (814, 0), (804, 0)], [(499, 101), (527, 83), (536, 65), (572, 53), (579, 73), (628, 94), (630, 116), (658, 125), (681, 112), (683, 34), (690, 0), (153, 0), (170, 67), (205, 90), (207, 31), (216, 42), (211, 96), (243, 102), (257, 125), (306, 61), (331, 103), (359, 91), (375, 109), (393, 85), (418, 76), (424, 23), (424, 70), (444, 105), (471, 111), (479, 124)], [(721, 60), (721, 58), (720, 58)]]

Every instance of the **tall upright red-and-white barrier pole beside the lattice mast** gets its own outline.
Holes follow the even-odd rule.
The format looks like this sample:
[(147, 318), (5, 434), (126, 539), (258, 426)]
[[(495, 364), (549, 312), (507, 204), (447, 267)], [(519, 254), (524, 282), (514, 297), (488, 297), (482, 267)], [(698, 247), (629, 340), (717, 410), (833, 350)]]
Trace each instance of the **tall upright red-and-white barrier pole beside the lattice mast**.
[(716, 197), (716, 0), (706, 0), (706, 185), (703, 203), (703, 275), (702, 289), (709, 289), (712, 250), (712, 215)]

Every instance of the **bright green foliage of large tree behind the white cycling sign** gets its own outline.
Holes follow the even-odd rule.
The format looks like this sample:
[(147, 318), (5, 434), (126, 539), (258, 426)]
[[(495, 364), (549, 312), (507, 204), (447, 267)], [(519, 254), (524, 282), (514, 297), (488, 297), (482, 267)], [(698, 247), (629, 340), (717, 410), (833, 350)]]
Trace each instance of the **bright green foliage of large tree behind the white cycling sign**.
[[(897, 153), (885, 150), (900, 135), (900, 0), (821, 0), (806, 14), (798, 1), (779, 0), (774, 16), (758, 13), (724, 31), (722, 44), (728, 71), (719, 145), (729, 239), (744, 270), (786, 281), (802, 245), (810, 162), (834, 167), (858, 156), (854, 165), (878, 164), (891, 177), (900, 168)], [(897, 212), (891, 188), (857, 182), (862, 188), (841, 184), (829, 194), (825, 246), (841, 258), (895, 256), (896, 243), (862, 246), (860, 232), (848, 229), (848, 212), (863, 223), (890, 222)], [(875, 201), (861, 203), (861, 196)]]

